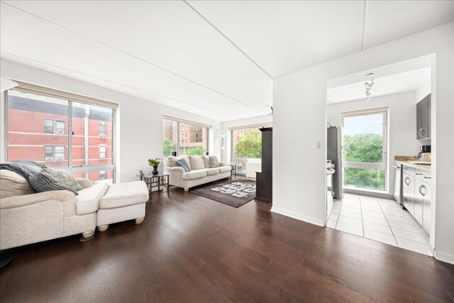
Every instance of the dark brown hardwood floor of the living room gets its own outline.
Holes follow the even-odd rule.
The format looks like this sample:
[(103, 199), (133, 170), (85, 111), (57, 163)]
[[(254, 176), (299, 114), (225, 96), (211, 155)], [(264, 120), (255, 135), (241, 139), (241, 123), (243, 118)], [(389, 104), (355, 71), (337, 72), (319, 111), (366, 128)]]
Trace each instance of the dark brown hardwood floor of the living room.
[[(302, 202), (301, 202), (302, 203)], [(145, 221), (1, 252), (6, 302), (452, 302), (454, 265), (170, 189)]]

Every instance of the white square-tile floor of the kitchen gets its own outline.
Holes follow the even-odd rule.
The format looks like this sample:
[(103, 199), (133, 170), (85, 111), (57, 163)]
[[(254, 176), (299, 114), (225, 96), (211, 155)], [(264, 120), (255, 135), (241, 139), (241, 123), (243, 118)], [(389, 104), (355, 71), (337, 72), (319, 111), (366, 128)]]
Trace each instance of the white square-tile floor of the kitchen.
[(428, 233), (394, 200), (344, 194), (343, 199), (334, 199), (326, 226), (431, 255)]

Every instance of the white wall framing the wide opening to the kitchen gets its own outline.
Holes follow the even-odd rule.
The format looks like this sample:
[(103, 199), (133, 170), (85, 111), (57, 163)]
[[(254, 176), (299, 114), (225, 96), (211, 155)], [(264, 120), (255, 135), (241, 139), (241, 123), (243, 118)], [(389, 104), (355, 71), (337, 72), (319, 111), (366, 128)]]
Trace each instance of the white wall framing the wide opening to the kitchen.
[[(428, 55), (432, 58), (432, 155), (433, 161), (441, 163), (432, 171), (436, 186), (432, 189), (431, 246), (436, 258), (454, 263), (453, 33), (454, 23), (448, 23), (275, 79), (273, 162), (279, 165), (273, 167), (272, 211), (324, 225), (326, 82)], [(321, 141), (320, 149), (313, 148), (314, 141)], [(289, 150), (304, 151), (299, 164), (288, 157)]]

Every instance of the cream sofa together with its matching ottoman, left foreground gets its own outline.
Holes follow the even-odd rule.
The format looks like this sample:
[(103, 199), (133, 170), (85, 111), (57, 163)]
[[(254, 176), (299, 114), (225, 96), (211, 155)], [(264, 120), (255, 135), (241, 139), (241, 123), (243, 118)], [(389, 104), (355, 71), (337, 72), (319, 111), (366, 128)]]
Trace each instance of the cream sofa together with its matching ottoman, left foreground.
[(110, 187), (88, 179), (77, 182), (84, 187), (77, 195), (67, 190), (35, 192), (26, 178), (0, 170), (0, 250), (77, 233), (87, 241), (96, 226), (105, 231), (108, 224), (129, 219), (140, 224), (145, 218), (145, 182)]

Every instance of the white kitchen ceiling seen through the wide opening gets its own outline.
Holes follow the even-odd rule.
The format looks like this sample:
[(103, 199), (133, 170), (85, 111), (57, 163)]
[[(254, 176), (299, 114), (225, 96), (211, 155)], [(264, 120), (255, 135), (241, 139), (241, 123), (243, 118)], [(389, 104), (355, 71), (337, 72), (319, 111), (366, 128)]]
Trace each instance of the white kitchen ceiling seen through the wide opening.
[[(412, 92), (427, 83), (431, 83), (430, 67), (387, 75), (374, 80), (370, 97), (375, 98), (388, 94)], [(365, 79), (360, 82), (332, 87), (326, 91), (328, 104), (365, 99), (364, 96)]]

